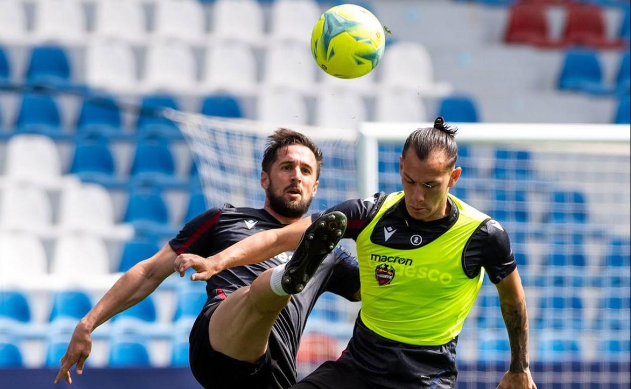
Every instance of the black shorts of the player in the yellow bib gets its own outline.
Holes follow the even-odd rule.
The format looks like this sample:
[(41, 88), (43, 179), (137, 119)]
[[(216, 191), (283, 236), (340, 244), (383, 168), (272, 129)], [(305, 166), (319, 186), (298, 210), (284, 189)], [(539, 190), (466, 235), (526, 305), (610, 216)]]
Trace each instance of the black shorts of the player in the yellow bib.
[(292, 389), (451, 389), (456, 387), (457, 339), (421, 346), (386, 339), (357, 318), (353, 337), (337, 361), (329, 361)]

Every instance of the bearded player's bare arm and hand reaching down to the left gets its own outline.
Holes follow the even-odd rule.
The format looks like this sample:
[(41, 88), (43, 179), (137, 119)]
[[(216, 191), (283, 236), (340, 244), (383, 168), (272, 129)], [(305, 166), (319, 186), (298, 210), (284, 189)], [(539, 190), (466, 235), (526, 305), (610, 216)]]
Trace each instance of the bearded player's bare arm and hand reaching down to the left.
[(138, 262), (116, 281), (74, 328), (66, 354), (61, 358), (61, 369), (57, 373), (55, 383), (59, 383), (64, 378), (68, 384), (71, 384), (70, 369), (74, 364), (77, 365), (77, 373), (83, 373), (83, 365), (92, 347), (90, 336), (92, 331), (112, 316), (149, 296), (165, 278), (172, 274), (175, 257), (177, 254), (172, 248), (165, 245), (153, 257)]

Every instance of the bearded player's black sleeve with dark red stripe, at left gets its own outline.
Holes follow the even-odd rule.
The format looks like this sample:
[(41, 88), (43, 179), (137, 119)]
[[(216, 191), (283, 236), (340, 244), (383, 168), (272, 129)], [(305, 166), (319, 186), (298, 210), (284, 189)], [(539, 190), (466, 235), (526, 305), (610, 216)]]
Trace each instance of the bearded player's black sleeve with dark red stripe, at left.
[(208, 257), (215, 252), (215, 225), (220, 217), (220, 208), (209, 209), (199, 214), (189, 223), (186, 223), (184, 228), (168, 244), (177, 254), (191, 253)]

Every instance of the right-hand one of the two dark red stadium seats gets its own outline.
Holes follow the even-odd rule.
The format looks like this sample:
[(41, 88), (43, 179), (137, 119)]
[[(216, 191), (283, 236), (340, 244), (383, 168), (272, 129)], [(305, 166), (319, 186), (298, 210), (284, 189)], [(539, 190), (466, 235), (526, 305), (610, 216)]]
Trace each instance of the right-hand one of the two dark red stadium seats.
[(573, 4), (567, 8), (567, 21), (563, 30), (566, 45), (591, 46), (598, 49), (620, 49), (622, 39), (609, 40), (602, 9), (594, 4)]

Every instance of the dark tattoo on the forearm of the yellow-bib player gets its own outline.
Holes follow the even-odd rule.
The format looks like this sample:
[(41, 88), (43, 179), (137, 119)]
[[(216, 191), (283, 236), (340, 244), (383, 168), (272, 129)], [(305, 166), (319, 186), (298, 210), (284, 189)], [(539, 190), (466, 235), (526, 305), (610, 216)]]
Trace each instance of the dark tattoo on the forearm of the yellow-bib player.
[(502, 303), (502, 316), (510, 340), (510, 368), (513, 373), (521, 373), (528, 368), (528, 311), (526, 301), (519, 299)]

